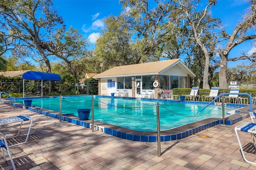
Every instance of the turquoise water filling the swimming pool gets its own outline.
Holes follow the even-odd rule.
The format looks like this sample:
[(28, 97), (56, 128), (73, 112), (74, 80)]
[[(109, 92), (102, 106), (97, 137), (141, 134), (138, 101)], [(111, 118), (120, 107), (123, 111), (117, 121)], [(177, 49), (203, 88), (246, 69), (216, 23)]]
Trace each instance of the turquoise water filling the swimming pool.
[[(134, 99), (116, 99), (95, 97), (94, 120), (111, 125), (140, 131), (156, 131), (157, 101), (141, 101)], [(23, 99), (16, 99), (24, 103)], [(74, 113), (78, 116), (78, 109), (92, 109), (92, 97), (72, 96), (61, 100), (61, 112)], [(168, 130), (207, 118), (222, 118), (222, 108), (209, 106), (198, 113), (205, 105), (188, 103), (158, 102), (160, 107), (160, 129)], [(60, 98), (32, 99), (32, 106), (60, 111)], [(237, 108), (225, 107), (225, 113)], [(92, 112), (89, 119), (91, 119)]]

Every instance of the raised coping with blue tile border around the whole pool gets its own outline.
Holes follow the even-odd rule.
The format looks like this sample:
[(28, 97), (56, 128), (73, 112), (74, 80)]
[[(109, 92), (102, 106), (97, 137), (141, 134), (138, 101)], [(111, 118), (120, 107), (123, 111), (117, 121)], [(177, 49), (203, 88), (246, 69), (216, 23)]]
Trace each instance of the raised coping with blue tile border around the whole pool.
[[(95, 95), (85, 95), (85, 96), (95, 96)], [(98, 96), (98, 95), (97, 95)], [(59, 97), (59, 96), (56, 96)], [(66, 96), (66, 97), (72, 97), (72, 96)], [(128, 98), (130, 97), (111, 97), (111, 96), (98, 96), (98, 97), (106, 97), (106, 98)], [(33, 99), (33, 98), (41, 98), (41, 97), (25, 97), (21, 99)], [(43, 97), (43, 98), (49, 98), (49, 97)], [(53, 98), (53, 97), (51, 97)], [(134, 98), (135, 99), (135, 98)], [(175, 103), (190, 103), (190, 104), (208, 104), (209, 102), (200, 102), (200, 101), (175, 101), (175, 100), (166, 100), (166, 99), (144, 99), (141, 100), (153, 100), (153, 101), (159, 101), (159, 102), (175, 102)], [(8, 103), (10, 105), (14, 105), (16, 107), (20, 107), (23, 109), (28, 109), (29, 111), (33, 111), (35, 113), (40, 113), (42, 115), (46, 115), (49, 117), (53, 117), (56, 119), (60, 119), (59, 112), (51, 111), (48, 109), (41, 109), (39, 107), (25, 107), (24, 104), (21, 103), (15, 103), (8, 99), (2, 99), (3, 103)], [(213, 104), (214, 105), (214, 104)], [(232, 104), (232, 103), (226, 103), (227, 106), (234, 106), (234, 107), (243, 107), (241, 109), (238, 109), (233, 115), (229, 115), (225, 118), (225, 125), (233, 125), (239, 121), (242, 121), (243, 119), (246, 119), (249, 116), (249, 106), (248, 105), (238, 105), (238, 104)], [(253, 107), (253, 110), (256, 109), (256, 106)], [(72, 116), (72, 115), (65, 115), (62, 114), (61, 116), (62, 121), (66, 121), (69, 123), (73, 123), (75, 125), (80, 125), (82, 127), (86, 128), (92, 128), (91, 120), (88, 121), (80, 121), (78, 117)], [(161, 141), (170, 141), (170, 140), (179, 140), (182, 138), (186, 138), (192, 134), (195, 134), (197, 132), (200, 132), (201, 130), (205, 130), (210, 127), (214, 127), (216, 125), (223, 124), (223, 120), (220, 118), (209, 118), (204, 119), (202, 121), (197, 121), (194, 123), (190, 123), (187, 125), (183, 125), (180, 127), (172, 128), (170, 130), (163, 130), (160, 132), (160, 139)], [(134, 140), (134, 141), (140, 141), (140, 142), (157, 142), (157, 132), (144, 132), (144, 131), (138, 131), (138, 130), (131, 130), (128, 128), (118, 127), (115, 125), (110, 125), (107, 123), (102, 123), (98, 121), (94, 121), (94, 130), (104, 132), (106, 134), (110, 134), (112, 136), (116, 136), (122, 139), (126, 140)]]

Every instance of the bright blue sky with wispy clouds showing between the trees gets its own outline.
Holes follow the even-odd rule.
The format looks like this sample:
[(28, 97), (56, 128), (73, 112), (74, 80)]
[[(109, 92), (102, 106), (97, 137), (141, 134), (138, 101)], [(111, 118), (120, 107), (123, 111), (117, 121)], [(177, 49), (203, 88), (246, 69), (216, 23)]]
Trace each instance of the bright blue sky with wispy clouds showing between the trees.
[[(208, 0), (204, 0), (205, 3)], [(105, 24), (103, 19), (109, 15), (119, 15), (122, 4), (119, 0), (53, 0), (58, 14), (69, 28), (80, 31), (85, 37), (90, 39), (90, 48), (94, 47), (96, 38), (101, 35), (101, 29)], [(212, 6), (212, 16), (221, 18), (224, 27), (232, 33), (234, 26), (242, 20), (241, 14), (248, 8), (246, 0), (218, 0), (215, 6)], [(250, 43), (240, 44), (232, 51), (229, 57), (237, 57), (242, 51), (249, 52), (255, 50)], [(228, 62), (228, 67), (235, 67), (242, 62), (248, 63), (248, 60)]]

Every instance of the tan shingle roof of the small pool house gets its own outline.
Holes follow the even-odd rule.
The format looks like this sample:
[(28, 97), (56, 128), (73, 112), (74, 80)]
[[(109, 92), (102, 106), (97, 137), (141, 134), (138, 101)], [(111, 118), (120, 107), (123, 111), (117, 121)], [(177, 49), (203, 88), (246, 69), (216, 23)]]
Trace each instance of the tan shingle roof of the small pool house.
[[(95, 75), (94, 78), (111, 77), (111, 76), (118, 76), (118, 75), (160, 74), (162, 71), (169, 69), (170, 67), (172, 67), (173, 65), (176, 65), (177, 63), (182, 63), (182, 62), (180, 61), (180, 59), (169, 59), (169, 60), (155, 61), (150, 63), (117, 66), (107, 71), (104, 71), (98, 75)], [(184, 64), (182, 63), (182, 65)], [(185, 65), (184, 67), (188, 69)]]

